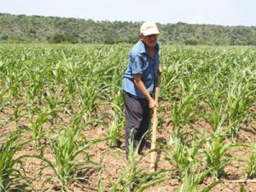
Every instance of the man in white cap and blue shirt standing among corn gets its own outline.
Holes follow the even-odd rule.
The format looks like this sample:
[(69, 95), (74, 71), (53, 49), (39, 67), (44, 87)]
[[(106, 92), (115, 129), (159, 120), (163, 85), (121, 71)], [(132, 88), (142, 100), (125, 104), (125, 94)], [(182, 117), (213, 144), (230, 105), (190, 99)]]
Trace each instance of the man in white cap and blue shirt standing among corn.
[(143, 135), (148, 131), (150, 111), (158, 107), (154, 101), (154, 88), (160, 67), (160, 44), (157, 41), (159, 30), (153, 22), (145, 22), (140, 29), (140, 40), (133, 46), (129, 55), (128, 67), (123, 76), (125, 102), (125, 152), (129, 152), (129, 139), (133, 146), (142, 139), (139, 153), (145, 146)]

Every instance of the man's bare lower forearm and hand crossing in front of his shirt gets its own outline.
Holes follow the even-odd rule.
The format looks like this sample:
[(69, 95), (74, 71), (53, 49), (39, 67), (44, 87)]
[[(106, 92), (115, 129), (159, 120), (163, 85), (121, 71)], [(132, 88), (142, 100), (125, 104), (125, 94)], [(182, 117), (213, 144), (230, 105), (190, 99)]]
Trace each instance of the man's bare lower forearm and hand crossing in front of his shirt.
[(134, 75), (134, 83), (136, 84), (137, 89), (140, 90), (148, 100), (148, 107), (149, 108), (154, 108), (154, 106), (157, 107), (157, 103), (154, 102), (154, 99), (150, 96), (150, 94), (148, 93), (148, 90), (143, 84), (142, 74), (137, 73)]

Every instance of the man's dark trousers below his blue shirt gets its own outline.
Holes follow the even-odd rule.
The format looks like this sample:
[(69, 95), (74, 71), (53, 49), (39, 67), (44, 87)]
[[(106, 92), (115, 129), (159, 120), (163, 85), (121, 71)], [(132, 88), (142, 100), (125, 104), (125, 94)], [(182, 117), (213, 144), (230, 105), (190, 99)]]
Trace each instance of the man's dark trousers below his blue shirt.
[(124, 91), (125, 102), (125, 152), (129, 153), (129, 140), (133, 137), (133, 147), (141, 141), (138, 152), (145, 146), (143, 135), (148, 131), (150, 124), (150, 109), (146, 99), (133, 96)]

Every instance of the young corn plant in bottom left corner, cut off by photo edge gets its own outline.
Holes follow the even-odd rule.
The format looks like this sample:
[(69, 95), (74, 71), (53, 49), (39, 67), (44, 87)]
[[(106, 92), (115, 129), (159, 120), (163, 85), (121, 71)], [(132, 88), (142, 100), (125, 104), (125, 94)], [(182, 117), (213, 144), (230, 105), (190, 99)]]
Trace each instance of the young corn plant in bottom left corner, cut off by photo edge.
[[(14, 191), (22, 190), (20, 186), (31, 186), (28, 178), (25, 176), (25, 170), (22, 168), (22, 159), (24, 155), (15, 158), (19, 152), (30, 140), (20, 142), (22, 129), (11, 132), (8, 135), (7, 142), (3, 143), (0, 149), (0, 190)], [(18, 168), (20, 165), (21, 169)], [(22, 172), (23, 171), (23, 172)]]

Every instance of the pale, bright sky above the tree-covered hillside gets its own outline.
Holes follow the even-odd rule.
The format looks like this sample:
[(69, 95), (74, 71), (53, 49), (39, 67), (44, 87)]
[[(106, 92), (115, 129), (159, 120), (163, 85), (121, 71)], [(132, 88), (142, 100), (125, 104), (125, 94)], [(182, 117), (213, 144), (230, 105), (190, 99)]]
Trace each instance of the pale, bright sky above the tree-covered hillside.
[(256, 0), (0, 0), (0, 13), (256, 26)]

